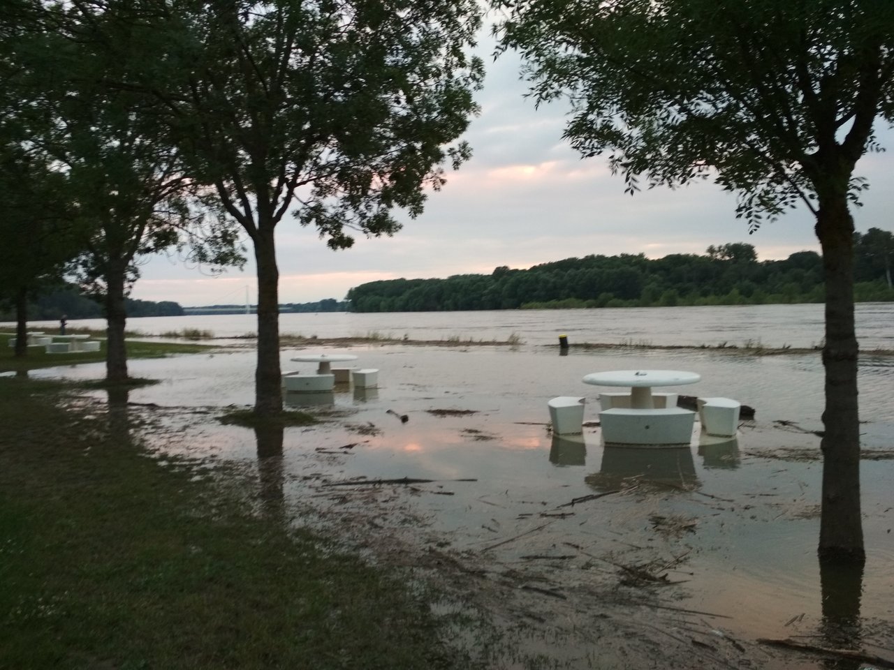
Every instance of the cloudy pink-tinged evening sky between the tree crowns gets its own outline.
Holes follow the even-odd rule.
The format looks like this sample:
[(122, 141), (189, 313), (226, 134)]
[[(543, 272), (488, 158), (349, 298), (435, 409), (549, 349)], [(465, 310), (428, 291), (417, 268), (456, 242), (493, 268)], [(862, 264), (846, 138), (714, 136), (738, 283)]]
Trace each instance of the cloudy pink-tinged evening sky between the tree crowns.
[[(795, 211), (748, 235), (736, 219), (736, 197), (711, 182), (671, 190), (655, 188), (631, 197), (624, 180), (612, 177), (604, 156), (581, 159), (561, 139), (565, 108), (534, 108), (523, 98), (519, 60), (496, 63), (493, 42), (482, 38), (487, 64), (485, 88), (477, 94), (481, 114), (465, 136), (474, 155), (446, 186), (431, 194), (416, 220), (399, 215), (403, 229), (392, 238), (359, 237), (354, 247), (332, 251), (313, 230), (290, 216), (277, 226), (280, 302), (333, 297), (366, 281), (490, 273), (508, 265), (527, 268), (588, 254), (704, 254), (709, 245), (746, 242), (759, 260), (819, 251), (813, 219)], [(879, 129), (894, 148), (894, 134)], [(855, 212), (857, 230), (892, 230), (894, 155), (866, 155), (857, 172), (870, 180), (864, 206)], [(141, 267), (132, 297), (173, 300), (182, 306), (242, 304), (248, 290), (256, 302), (250, 260), (243, 271), (209, 276), (181, 258), (156, 256)]]

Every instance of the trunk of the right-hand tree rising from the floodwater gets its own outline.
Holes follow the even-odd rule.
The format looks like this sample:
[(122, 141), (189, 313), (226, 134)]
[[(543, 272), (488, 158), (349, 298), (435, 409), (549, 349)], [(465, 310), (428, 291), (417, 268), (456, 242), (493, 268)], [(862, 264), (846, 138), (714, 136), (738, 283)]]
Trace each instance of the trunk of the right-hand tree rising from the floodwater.
[(860, 516), (860, 433), (857, 410), (858, 348), (854, 325), (854, 222), (846, 191), (820, 200), (816, 236), (825, 274), (825, 410), (822, 423), (823, 559), (865, 560)]

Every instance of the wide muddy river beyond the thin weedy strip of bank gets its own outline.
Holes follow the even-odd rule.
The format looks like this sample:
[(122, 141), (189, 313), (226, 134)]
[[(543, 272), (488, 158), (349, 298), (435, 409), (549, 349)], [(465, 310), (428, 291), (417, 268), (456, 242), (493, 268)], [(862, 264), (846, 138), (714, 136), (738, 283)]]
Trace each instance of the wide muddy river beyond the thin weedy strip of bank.
[[(283, 334), (319, 338), (379, 335), (415, 340), (502, 340), (554, 345), (559, 334), (574, 343), (653, 345), (721, 344), (737, 347), (810, 348), (822, 341), (822, 305), (648, 307), (625, 309), (415, 312), (407, 314), (282, 314)], [(56, 322), (34, 322), (53, 329)], [(102, 330), (98, 319), (70, 321), (70, 328)], [(257, 331), (253, 314), (130, 319), (128, 328), (151, 335), (185, 328), (232, 338)], [(864, 350), (894, 349), (894, 303), (856, 306), (856, 334)]]

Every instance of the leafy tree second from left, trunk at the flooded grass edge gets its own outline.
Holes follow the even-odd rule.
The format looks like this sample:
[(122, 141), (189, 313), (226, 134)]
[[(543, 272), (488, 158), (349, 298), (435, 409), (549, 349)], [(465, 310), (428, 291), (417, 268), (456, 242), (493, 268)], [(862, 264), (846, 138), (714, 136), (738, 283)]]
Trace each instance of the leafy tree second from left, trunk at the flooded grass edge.
[(105, 17), (39, 6), (25, 24), (26, 36), (43, 46), (25, 59), (33, 72), (25, 94), (50, 122), (30, 143), (52, 158), (74, 194), (80, 253), (69, 272), (104, 306), (106, 380), (121, 383), (128, 381), (126, 297), (139, 277), (139, 256), (200, 239), (201, 257), (238, 263), (235, 235), (225, 228), (197, 235), (203, 217), (190, 207), (194, 182), (183, 173), (156, 101), (109, 85), (132, 63), (106, 57), (97, 40)]

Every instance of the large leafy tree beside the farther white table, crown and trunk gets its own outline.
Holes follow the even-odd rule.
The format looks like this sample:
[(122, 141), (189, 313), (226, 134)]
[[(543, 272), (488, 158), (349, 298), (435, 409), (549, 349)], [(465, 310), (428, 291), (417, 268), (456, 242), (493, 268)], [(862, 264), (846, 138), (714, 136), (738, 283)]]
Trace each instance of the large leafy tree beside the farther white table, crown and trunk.
[[(333, 249), (351, 233), (391, 235), (445, 182), (447, 148), (477, 106), (482, 65), (467, 54), (474, 0), (92, 2), (126, 28), (106, 40), (132, 69), (121, 88), (156, 96), (207, 203), (251, 239), (257, 264), (255, 411), (282, 410), (274, 230), (292, 207)], [(137, 46), (134, 46), (137, 45)], [(138, 49), (139, 45), (148, 45)], [(133, 58), (135, 49), (139, 59)]]

